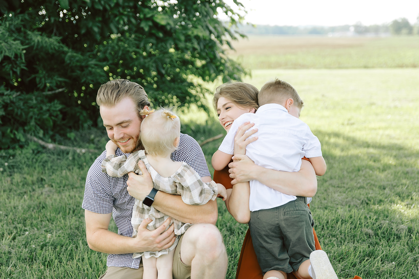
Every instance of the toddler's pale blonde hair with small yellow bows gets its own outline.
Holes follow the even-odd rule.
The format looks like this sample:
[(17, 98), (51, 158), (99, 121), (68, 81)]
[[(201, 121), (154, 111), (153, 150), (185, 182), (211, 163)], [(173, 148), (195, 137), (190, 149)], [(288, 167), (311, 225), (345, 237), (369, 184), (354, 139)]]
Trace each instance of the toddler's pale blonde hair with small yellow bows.
[(166, 156), (178, 148), (175, 140), (180, 137), (181, 122), (172, 110), (141, 110), (140, 115), (146, 115), (141, 121), (140, 140), (147, 154)]

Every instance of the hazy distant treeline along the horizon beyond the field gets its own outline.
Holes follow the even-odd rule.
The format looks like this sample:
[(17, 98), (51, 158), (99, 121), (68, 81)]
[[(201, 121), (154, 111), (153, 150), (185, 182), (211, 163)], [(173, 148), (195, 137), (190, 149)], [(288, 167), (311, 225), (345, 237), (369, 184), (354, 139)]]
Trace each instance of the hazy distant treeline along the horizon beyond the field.
[[(418, 17), (419, 18), (419, 17)], [(246, 35), (328, 35), (348, 33), (352, 35), (368, 34), (393, 34), (393, 35), (413, 35), (419, 34), (418, 23), (411, 25), (406, 18), (393, 20), (389, 24), (375, 24), (370, 26), (355, 23), (353, 25), (341, 26), (269, 26), (269, 25), (239, 25), (239, 31)]]

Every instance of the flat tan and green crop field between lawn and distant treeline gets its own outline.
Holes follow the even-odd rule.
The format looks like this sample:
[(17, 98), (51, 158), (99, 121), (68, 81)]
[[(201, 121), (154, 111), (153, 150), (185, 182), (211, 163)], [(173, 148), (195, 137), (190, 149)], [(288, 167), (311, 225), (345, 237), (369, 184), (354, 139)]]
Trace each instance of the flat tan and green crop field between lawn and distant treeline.
[(249, 36), (230, 55), (250, 69), (419, 67), (419, 36)]

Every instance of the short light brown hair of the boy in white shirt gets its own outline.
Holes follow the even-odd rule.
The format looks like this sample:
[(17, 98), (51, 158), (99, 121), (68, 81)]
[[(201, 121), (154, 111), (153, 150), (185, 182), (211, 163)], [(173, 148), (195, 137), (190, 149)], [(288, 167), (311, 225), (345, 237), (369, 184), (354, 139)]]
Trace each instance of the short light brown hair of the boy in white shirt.
[(258, 94), (259, 105), (272, 103), (282, 105), (283, 102), (290, 98), (294, 100), (294, 105), (300, 110), (303, 108), (304, 102), (301, 100), (300, 95), (298, 95), (297, 90), (288, 82), (280, 79), (266, 82)]

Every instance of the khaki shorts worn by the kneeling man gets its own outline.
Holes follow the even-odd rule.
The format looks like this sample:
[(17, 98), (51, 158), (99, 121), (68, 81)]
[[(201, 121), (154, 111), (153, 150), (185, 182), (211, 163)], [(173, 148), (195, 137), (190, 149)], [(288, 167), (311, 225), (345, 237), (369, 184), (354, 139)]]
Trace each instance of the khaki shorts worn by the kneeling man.
[[(187, 266), (181, 261), (181, 245), (183, 236), (181, 235), (179, 243), (175, 249), (175, 255), (173, 256), (173, 279), (190, 279), (191, 278), (191, 266)], [(105, 274), (99, 277), (99, 279), (142, 279), (142, 262), (138, 269), (132, 269), (129, 267), (116, 267), (108, 266)]]

